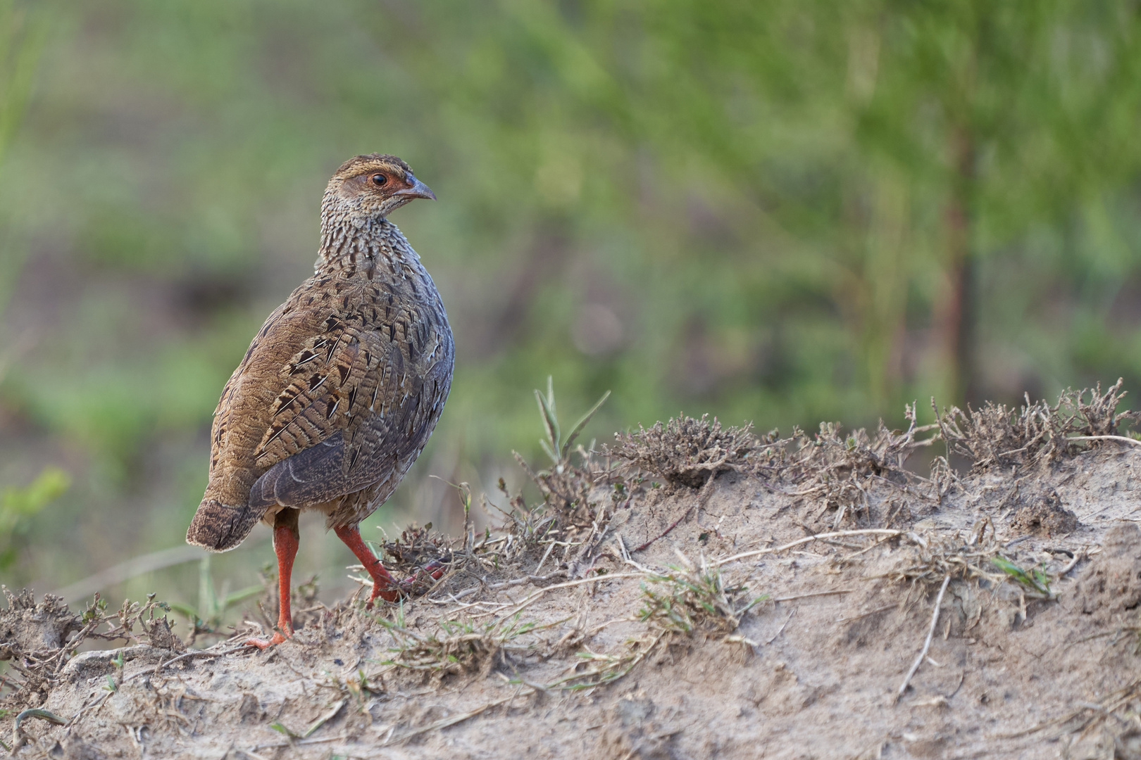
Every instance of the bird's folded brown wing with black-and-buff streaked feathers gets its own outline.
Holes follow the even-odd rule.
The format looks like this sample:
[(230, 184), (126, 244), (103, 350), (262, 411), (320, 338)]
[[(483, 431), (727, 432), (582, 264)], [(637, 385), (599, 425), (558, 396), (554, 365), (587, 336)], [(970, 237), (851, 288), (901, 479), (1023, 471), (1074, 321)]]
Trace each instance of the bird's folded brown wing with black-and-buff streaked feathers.
[(283, 370), (289, 384), (256, 451), (266, 473), (251, 502), (318, 504), (402, 466), (427, 442), (447, 397), (451, 346), (443, 348), (410, 359), (391, 333), (327, 325)]

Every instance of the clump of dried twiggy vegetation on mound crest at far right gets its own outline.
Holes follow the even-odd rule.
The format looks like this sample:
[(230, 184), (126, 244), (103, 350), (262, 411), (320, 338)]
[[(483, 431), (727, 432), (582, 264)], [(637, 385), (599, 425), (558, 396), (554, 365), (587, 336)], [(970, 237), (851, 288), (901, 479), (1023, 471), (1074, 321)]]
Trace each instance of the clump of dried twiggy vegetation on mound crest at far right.
[(1100, 383), (1081, 391), (1067, 389), (1053, 406), (1031, 402), (1027, 394), (1017, 410), (990, 401), (977, 410), (952, 407), (939, 414), (937, 409), (939, 431), (948, 450), (971, 459), (979, 471), (1053, 461), (1099, 440), (1123, 438), (1118, 427), (1141, 418), (1141, 412), (1117, 411), (1125, 397), (1122, 382), (1118, 378), (1104, 393)]

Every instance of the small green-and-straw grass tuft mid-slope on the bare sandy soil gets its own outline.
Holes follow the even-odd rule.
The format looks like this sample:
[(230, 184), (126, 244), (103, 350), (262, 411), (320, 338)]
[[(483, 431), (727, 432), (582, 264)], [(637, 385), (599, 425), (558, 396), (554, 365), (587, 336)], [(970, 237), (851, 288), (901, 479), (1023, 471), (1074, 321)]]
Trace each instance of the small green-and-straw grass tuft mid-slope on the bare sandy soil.
[(679, 556), (681, 565), (670, 565), (666, 573), (647, 575), (649, 582), (641, 587), (639, 620), (686, 636), (701, 629), (731, 634), (741, 624), (742, 615), (769, 598), (762, 595), (750, 599), (744, 585), (726, 587), (721, 570), (710, 566), (704, 556), (699, 565), (685, 555)]

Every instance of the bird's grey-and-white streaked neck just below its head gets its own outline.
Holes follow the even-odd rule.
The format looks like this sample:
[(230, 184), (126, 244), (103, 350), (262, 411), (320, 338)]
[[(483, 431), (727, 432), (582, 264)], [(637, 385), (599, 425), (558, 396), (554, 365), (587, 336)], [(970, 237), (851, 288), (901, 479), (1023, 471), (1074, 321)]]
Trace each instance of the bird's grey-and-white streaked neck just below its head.
[(359, 219), (325, 215), (321, 224), (317, 275), (398, 273), (420, 259), (399, 228), (385, 218)]

